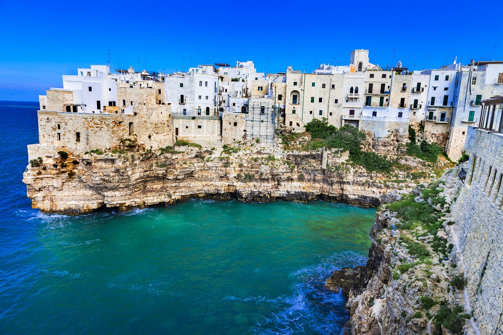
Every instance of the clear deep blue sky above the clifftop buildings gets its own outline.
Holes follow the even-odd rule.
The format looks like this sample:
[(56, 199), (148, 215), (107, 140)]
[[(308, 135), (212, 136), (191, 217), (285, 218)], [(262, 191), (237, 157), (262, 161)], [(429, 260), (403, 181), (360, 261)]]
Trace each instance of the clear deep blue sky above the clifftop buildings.
[[(0, 100), (38, 101), (62, 74), (172, 72), (198, 63), (253, 60), (258, 71), (312, 71), (370, 61), (420, 70), (503, 60), (503, 1), (11, 1), (0, 0)], [(185, 59), (184, 59), (185, 57)]]

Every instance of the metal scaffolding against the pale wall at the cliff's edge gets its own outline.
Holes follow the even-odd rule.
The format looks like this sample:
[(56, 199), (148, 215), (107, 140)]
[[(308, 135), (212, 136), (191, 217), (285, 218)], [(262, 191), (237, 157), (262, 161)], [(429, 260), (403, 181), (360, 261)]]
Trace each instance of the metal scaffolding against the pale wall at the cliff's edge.
[(261, 143), (274, 144), (276, 136), (277, 106), (269, 102), (245, 102), (243, 108), (246, 124), (246, 138), (259, 138)]

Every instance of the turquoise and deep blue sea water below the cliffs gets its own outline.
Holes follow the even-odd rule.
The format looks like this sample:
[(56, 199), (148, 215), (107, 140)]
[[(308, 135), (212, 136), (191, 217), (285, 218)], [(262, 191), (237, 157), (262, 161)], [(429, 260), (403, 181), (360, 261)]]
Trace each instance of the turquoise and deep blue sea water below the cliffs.
[(344, 298), (324, 279), (366, 262), (375, 209), (192, 200), (43, 215), (21, 182), (36, 107), (5, 105), (0, 333), (341, 331)]

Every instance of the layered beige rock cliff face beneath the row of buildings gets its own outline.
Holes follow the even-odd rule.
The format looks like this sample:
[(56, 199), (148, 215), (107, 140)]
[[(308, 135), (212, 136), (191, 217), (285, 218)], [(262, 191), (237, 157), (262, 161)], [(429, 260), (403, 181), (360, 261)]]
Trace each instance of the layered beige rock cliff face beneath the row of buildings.
[[(126, 210), (190, 197), (244, 201), (326, 199), (378, 206), (388, 187), (383, 176), (345, 162), (347, 153), (285, 153), (264, 147), (164, 151), (115, 150), (28, 166), (23, 181), (34, 208), (81, 214), (96, 208)], [(326, 167), (326, 169), (325, 169)]]

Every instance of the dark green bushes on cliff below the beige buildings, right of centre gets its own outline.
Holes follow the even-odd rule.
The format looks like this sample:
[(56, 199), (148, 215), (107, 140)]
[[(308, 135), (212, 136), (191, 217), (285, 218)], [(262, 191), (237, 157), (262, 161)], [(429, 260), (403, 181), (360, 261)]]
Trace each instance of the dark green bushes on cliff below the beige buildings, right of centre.
[(353, 126), (346, 125), (338, 129), (328, 125), (327, 119), (322, 118), (307, 123), (306, 131), (313, 138), (309, 142), (309, 149), (327, 147), (349, 150), (351, 160), (368, 171), (388, 172), (393, 165), (393, 162), (375, 152), (362, 151), (360, 143), (365, 141), (366, 136)]

